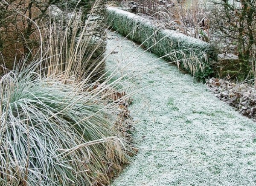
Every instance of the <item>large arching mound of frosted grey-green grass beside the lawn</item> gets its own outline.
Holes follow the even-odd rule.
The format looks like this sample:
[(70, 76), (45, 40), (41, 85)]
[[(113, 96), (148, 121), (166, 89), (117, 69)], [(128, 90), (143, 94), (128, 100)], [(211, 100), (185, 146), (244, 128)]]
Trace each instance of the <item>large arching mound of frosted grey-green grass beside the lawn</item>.
[(109, 184), (129, 162), (116, 109), (31, 68), (0, 81), (0, 185)]

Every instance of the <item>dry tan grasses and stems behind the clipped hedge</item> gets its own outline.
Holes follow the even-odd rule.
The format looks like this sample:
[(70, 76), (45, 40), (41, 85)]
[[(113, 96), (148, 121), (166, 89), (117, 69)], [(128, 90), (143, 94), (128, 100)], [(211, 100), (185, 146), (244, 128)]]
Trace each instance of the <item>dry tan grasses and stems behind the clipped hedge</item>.
[(134, 0), (125, 6), (134, 14), (153, 17), (164, 28), (209, 42), (209, 12), (199, 0)]

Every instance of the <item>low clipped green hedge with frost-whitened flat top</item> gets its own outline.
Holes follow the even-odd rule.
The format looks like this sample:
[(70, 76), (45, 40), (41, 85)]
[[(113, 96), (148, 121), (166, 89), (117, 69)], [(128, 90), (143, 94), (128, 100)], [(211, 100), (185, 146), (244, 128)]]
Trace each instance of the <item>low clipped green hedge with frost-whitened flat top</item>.
[[(205, 68), (202, 74), (198, 68), (199, 65), (195, 64), (196, 68), (198, 68), (198, 73), (193, 75), (200, 79), (212, 73), (211, 64), (212, 61), (217, 60), (217, 52), (216, 48), (207, 42), (188, 37), (173, 30), (158, 28), (145, 17), (114, 7), (107, 8), (107, 23), (123, 36), (127, 36), (134, 42), (142, 43), (153, 54), (164, 57), (167, 60), (180, 60), (181, 64), (183, 64), (184, 58), (187, 58), (186, 62), (195, 64), (193, 59), (191, 60), (191, 55), (196, 56), (199, 59), (199, 63)], [(183, 53), (181, 54), (177, 51), (183, 51)], [(181, 66), (191, 72), (191, 66), (184, 64)]]

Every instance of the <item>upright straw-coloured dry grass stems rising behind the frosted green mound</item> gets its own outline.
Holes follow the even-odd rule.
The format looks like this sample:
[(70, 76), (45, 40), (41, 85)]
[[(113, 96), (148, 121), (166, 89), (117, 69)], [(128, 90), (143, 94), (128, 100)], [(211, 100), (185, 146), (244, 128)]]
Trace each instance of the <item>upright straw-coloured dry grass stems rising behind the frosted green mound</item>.
[[(62, 74), (64, 78), (74, 76), (77, 81), (99, 81), (105, 69), (105, 5), (96, 0), (86, 15), (82, 12), (83, 8), (75, 8), (67, 13), (55, 9), (60, 16), (55, 16), (56, 10), (50, 7), (51, 21), (41, 29), (47, 74)], [(87, 17), (86, 20), (84, 17)]]

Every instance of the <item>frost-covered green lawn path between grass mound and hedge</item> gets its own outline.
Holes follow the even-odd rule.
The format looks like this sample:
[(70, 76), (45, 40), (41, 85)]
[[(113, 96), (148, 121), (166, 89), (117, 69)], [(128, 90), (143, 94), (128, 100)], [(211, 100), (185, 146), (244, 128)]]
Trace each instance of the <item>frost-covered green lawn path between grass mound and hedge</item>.
[[(256, 123), (188, 74), (110, 32), (107, 69), (138, 91), (135, 160), (113, 186), (256, 185)], [(121, 42), (122, 41), (122, 42)], [(144, 53), (143, 53), (144, 52)]]

